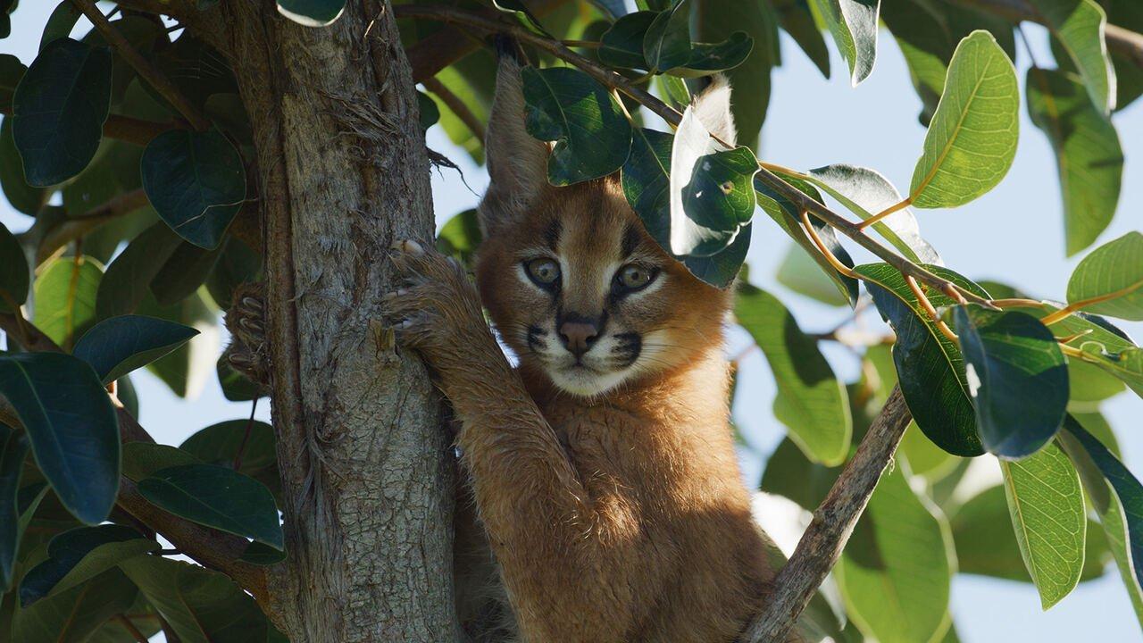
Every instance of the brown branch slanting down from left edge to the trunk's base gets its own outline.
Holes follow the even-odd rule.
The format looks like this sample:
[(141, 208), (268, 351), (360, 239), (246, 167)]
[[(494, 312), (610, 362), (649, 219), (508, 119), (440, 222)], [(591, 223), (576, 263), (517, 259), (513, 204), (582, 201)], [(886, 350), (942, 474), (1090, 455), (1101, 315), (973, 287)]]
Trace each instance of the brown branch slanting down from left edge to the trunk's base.
[[(0, 313), (0, 331), (9, 336), (18, 338), (25, 350), (63, 352), (59, 344), (27, 320), (18, 319), (15, 313)], [(115, 404), (115, 415), (119, 419), (120, 439), (123, 443), (154, 443), (151, 434), (121, 404)], [(18, 415), (2, 396), (0, 396), (0, 420), (19, 426)], [(239, 559), (247, 547), (245, 538), (205, 527), (159, 509), (147, 502), (139, 494), (135, 483), (126, 476), (119, 478), (119, 497), (115, 499), (115, 505), (146, 526), (161, 533), (175, 547), (182, 549), (203, 566), (218, 570), (234, 579), (242, 588), (253, 594), (258, 603), (269, 604), (266, 603), (269, 593), (265, 570)]]

